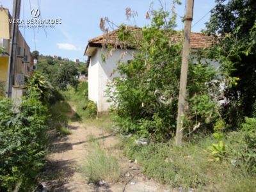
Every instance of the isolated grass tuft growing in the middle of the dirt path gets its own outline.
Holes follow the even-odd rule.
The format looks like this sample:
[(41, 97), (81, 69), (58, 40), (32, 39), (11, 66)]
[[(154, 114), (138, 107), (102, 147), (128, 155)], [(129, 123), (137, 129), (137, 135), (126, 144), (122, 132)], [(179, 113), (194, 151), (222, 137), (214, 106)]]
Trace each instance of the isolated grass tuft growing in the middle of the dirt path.
[(81, 166), (81, 173), (86, 177), (88, 182), (97, 183), (100, 180), (110, 182), (118, 181), (120, 176), (120, 166), (116, 157), (110, 156), (95, 138), (88, 137), (92, 150), (86, 157), (86, 161)]

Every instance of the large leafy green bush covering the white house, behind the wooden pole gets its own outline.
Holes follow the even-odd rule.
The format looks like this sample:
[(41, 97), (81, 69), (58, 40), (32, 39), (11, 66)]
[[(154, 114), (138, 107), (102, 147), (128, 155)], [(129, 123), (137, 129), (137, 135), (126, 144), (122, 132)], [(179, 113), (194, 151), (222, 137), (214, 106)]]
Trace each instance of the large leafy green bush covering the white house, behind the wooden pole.
[[(142, 31), (120, 26), (119, 40), (140, 52), (129, 64), (118, 63), (120, 76), (109, 84), (108, 96), (122, 132), (166, 141), (173, 137), (176, 127), (182, 36), (174, 30), (175, 13), (162, 9), (150, 13), (151, 24)], [(198, 57), (189, 63), (188, 116), (184, 119), (187, 133), (196, 125), (212, 131), (220, 118), (215, 99), (217, 73)]]

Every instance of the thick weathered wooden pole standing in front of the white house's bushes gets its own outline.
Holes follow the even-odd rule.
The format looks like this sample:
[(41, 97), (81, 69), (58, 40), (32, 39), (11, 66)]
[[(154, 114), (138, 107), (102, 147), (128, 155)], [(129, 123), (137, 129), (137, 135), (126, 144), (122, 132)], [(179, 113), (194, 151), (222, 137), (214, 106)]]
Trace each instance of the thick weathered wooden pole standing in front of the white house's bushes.
[(182, 48), (182, 63), (180, 71), (180, 91), (178, 102), (178, 116), (177, 116), (177, 128), (175, 143), (178, 147), (182, 143), (182, 131), (183, 131), (183, 118), (185, 111), (185, 99), (186, 99), (186, 86), (188, 77), (188, 63), (189, 63), (189, 41), (191, 33), (191, 22), (193, 20), (193, 7), (194, 0), (186, 0), (186, 16), (184, 24), (184, 42)]

